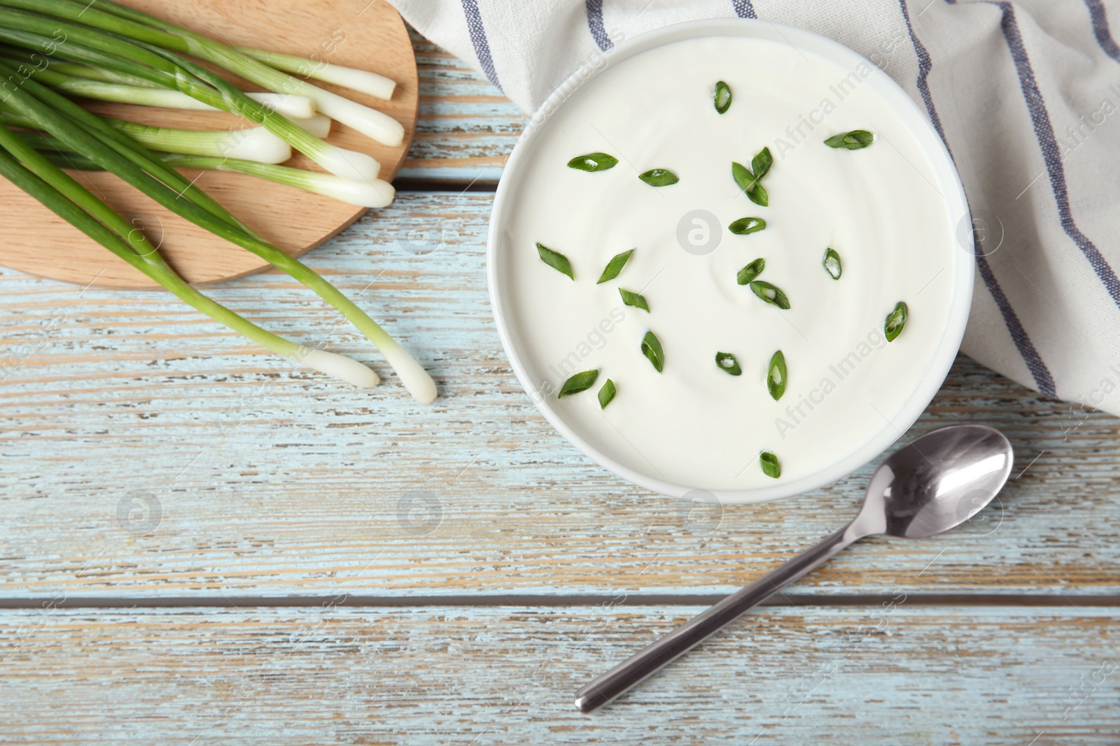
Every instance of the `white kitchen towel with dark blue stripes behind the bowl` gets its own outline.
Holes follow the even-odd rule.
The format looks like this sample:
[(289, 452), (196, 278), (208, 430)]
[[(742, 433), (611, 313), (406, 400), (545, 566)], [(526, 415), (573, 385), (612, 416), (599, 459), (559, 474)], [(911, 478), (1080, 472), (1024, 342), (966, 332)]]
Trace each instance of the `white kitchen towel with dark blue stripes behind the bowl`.
[(676, 21), (758, 18), (851, 47), (925, 108), (964, 182), (982, 255), (963, 351), (1120, 414), (1120, 0), (391, 1), (526, 112)]

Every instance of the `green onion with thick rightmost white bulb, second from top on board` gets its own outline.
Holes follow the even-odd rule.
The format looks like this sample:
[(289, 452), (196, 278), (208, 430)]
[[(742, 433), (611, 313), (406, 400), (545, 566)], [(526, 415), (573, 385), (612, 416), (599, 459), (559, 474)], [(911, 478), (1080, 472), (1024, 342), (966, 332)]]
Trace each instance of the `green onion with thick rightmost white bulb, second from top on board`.
[[(348, 124), (385, 145), (396, 147), (403, 142), (404, 128), (391, 116), (329, 91), (324, 91), (253, 58), (256, 55), (271, 57), (276, 64), (282, 59), (282, 56), (260, 50), (242, 50), (109, 0), (101, 0), (96, 8), (92, 7), (92, 3), (73, 2), (72, 0), (0, 0), (0, 4), (36, 13), (47, 13), (84, 23), (119, 37), (144, 41), (167, 50), (197, 57), (274, 93), (295, 93), (307, 96), (315, 102), (320, 112), (330, 119)], [(105, 10), (100, 10), (100, 8)], [(317, 70), (319, 75), (323, 75), (326, 69), (326, 66), (312, 60), (299, 60), (297, 64)], [(389, 93), (392, 94), (391, 91)], [(295, 145), (295, 143), (292, 144)]]

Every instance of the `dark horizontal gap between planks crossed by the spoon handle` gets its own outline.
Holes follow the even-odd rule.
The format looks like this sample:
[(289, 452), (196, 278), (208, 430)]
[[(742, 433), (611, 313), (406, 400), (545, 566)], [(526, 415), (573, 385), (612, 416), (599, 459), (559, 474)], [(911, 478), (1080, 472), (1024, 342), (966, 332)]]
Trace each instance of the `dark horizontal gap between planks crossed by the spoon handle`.
[[(307, 607), (353, 606), (379, 608), (411, 608), (419, 606), (470, 607), (570, 607), (570, 606), (710, 606), (722, 601), (722, 594), (572, 594), (544, 596), (536, 594), (474, 594), (429, 596), (365, 596), (340, 593), (333, 596), (32, 596), (0, 598), (0, 610), (15, 608), (244, 608), (244, 607)], [(778, 593), (762, 602), (764, 606), (790, 607), (844, 607), (879, 606), (897, 602), (890, 594), (796, 594)], [(979, 594), (979, 593), (914, 593), (906, 596), (907, 605), (917, 606), (1120, 606), (1120, 595), (1105, 594)]]

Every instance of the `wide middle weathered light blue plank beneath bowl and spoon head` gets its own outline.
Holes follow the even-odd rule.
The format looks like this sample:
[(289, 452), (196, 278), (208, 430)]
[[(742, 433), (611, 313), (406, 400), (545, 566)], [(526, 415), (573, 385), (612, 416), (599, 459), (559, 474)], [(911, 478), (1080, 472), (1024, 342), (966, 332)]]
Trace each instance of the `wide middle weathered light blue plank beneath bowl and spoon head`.
[[(372, 362), (381, 387), (292, 369), (161, 293), (0, 273), (0, 595), (726, 593), (851, 517), (869, 469), (689, 525), (560, 438), (494, 329), (491, 199), (402, 195), (309, 255), (432, 371), (431, 407), (284, 275), (211, 292)], [(956, 422), (1017, 450), (984, 521), (867, 540), (793, 593), (1120, 592), (1117, 418), (960, 358), (909, 436)], [(410, 512), (424, 495), (438, 519)], [(133, 498), (159, 501), (158, 526), (129, 521)]]

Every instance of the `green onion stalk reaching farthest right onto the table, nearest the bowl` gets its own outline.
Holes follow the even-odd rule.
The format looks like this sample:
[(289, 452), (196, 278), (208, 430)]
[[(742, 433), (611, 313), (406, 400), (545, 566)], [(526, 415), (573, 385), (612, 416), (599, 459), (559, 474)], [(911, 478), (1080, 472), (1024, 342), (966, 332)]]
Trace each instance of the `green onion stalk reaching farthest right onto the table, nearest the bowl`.
[[(11, 68), (0, 63), (0, 78), (7, 78), (10, 75), (13, 75)], [(67, 149), (86, 155), (90, 160), (140, 189), (172, 213), (256, 254), (314, 290), (384, 353), (390, 365), (401, 376), (401, 381), (405, 388), (416, 398), (426, 404), (436, 398), (436, 385), (428, 372), (395, 340), (385, 333), (373, 319), (357, 308), (353, 301), (343, 295), (338, 289), (298, 259), (284, 254), (262, 238), (252, 235), (249, 230), (216, 217), (194, 201), (180, 199), (180, 193), (175, 191), (174, 188), (170, 188), (161, 179), (153, 178), (148, 171), (133, 162), (133, 158), (130, 155), (134, 154), (136, 151), (125, 153), (115, 147), (118, 141), (114, 140), (114, 136), (119, 135), (123, 138), (124, 135), (100, 122), (96, 116), (88, 114), (88, 112), (76, 106), (73, 102), (32, 79), (24, 81), (21, 85), (15, 86), (7, 93), (7, 105), (19, 115), (30, 120), (37, 130), (43, 130), (55, 135)], [(55, 110), (48, 102), (60, 102), (60, 106), (76, 106), (83, 114), (97, 120), (94, 131), (91, 132), (82, 126), (75, 126), (74, 120)], [(280, 117), (278, 116), (277, 119)], [(101, 131), (102, 126), (109, 130), (110, 134)], [(166, 164), (160, 163), (160, 166), (171, 171), (177, 178), (183, 178)]]

